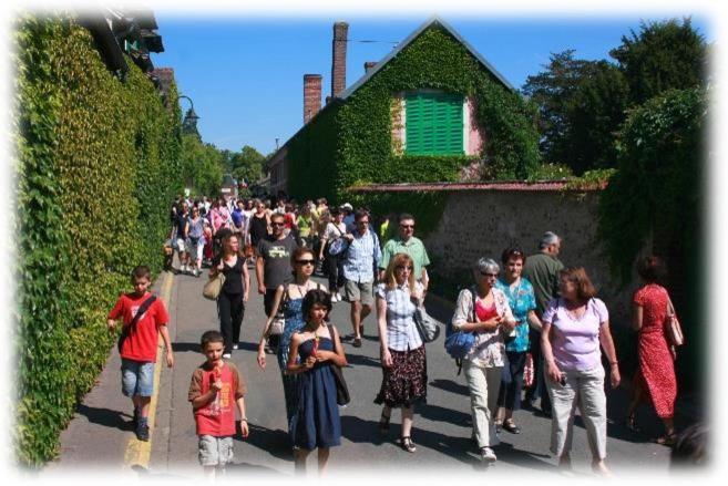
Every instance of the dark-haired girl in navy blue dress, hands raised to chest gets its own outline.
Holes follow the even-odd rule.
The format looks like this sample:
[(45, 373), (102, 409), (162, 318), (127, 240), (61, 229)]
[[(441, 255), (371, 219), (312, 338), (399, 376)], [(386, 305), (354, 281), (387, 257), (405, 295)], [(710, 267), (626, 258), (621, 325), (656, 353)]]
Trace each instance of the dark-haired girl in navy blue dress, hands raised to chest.
[(318, 471), (322, 474), (329, 448), (341, 444), (341, 420), (331, 366), (346, 366), (347, 359), (338, 330), (326, 323), (331, 297), (324, 290), (309, 290), (301, 311), (306, 325), (294, 333), (288, 352), (288, 372), (298, 375), (298, 400), (290, 421), (290, 437), (296, 472), (306, 473), (306, 458), (318, 448)]

